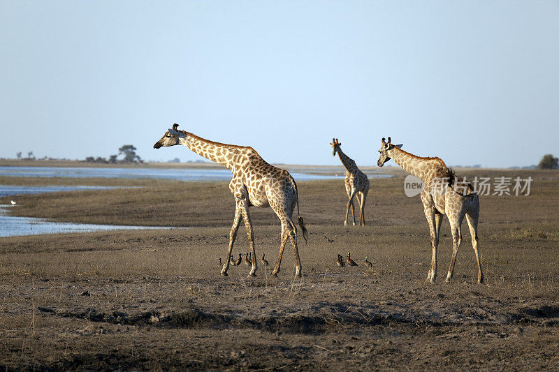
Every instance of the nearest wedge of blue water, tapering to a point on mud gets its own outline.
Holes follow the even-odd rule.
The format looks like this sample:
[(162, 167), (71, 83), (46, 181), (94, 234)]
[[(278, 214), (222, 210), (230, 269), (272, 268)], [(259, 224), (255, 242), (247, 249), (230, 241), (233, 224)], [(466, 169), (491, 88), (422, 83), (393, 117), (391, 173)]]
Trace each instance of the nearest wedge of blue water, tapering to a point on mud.
[(10, 216), (11, 207), (11, 205), (0, 204), (0, 237), (58, 234), (62, 232), (170, 229), (169, 227), (94, 225), (91, 223), (51, 222), (46, 221), (43, 218)]

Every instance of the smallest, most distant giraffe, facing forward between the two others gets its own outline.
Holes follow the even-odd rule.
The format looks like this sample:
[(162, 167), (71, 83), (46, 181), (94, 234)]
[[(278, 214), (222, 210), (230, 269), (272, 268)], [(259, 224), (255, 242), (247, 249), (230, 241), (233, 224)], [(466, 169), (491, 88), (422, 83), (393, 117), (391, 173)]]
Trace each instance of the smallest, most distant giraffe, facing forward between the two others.
[[(345, 221), (344, 226), (347, 226), (347, 218), (349, 217), (349, 207), (351, 207), (351, 215), (354, 218), (355, 226), (355, 207), (354, 207), (354, 196), (357, 195), (357, 201), (359, 202), (359, 225), (365, 226), (365, 200), (367, 199), (367, 193), (369, 192), (369, 179), (355, 164), (353, 159), (349, 158), (341, 149), (342, 142), (337, 142), (337, 138), (332, 138), (332, 156), (337, 153), (340, 156), (340, 161), (345, 168), (345, 192), (349, 198), (347, 202), (347, 209), (345, 211)], [(361, 196), (361, 200), (359, 197)]]

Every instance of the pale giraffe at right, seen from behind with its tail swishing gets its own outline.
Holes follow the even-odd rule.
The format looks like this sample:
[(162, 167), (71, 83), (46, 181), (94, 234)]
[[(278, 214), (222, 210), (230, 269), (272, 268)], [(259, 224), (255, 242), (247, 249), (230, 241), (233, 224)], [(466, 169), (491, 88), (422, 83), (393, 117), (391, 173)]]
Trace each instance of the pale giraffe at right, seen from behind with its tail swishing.
[(477, 283), (484, 282), (484, 274), (481, 271), (479, 260), (477, 223), (479, 219), (479, 196), (474, 192), (472, 185), (465, 179), (456, 177), (453, 170), (447, 168), (440, 158), (421, 158), (403, 151), (402, 144), (391, 144), (391, 139), (385, 142), (379, 149), (379, 160), (377, 165), (382, 167), (384, 163), (392, 159), (407, 172), (414, 174), (423, 181), (421, 191), (421, 202), (429, 224), (431, 235), (431, 267), (427, 280), (435, 283), (437, 277), (437, 246), (442, 223), (442, 216), (447, 215), (452, 232), (452, 256), (449, 271), (447, 272), (447, 283), (451, 280), (456, 263), (456, 254), (462, 241), (461, 226), (464, 216), (470, 228), (472, 236), (472, 247), (477, 260)]

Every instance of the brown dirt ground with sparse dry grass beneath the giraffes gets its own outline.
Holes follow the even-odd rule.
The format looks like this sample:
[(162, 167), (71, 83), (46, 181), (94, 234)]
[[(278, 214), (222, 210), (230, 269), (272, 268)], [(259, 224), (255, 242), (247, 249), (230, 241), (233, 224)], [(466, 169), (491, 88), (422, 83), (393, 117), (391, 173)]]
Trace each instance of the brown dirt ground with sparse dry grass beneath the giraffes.
[[(299, 183), (310, 231), (300, 241), (302, 280), (293, 280), (289, 249), (279, 278), (262, 265), (247, 278), (244, 264), (219, 276), (234, 210), (226, 182), (22, 196), (15, 214), (194, 228), (1, 238), (0, 368), (555, 370), (559, 174), (464, 172), (534, 178), (528, 197), (481, 197), (483, 285), (467, 228), (444, 283), (447, 221), (437, 283), (424, 282), (428, 227), (398, 172), (372, 179), (365, 227), (342, 225), (341, 180)], [(251, 213), (256, 251), (273, 265), (277, 218)], [(234, 252), (245, 251), (241, 227)], [(347, 251), (360, 266), (335, 265)]]

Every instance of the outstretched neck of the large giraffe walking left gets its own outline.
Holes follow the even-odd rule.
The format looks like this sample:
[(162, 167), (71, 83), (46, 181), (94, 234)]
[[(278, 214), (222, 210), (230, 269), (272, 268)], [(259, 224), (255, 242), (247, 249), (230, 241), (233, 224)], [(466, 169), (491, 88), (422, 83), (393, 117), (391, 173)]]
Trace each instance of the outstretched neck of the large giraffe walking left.
[(180, 139), (180, 144), (188, 147), (196, 154), (215, 163), (221, 164), (233, 172), (235, 164), (239, 162), (243, 149), (251, 149), (250, 147), (236, 146), (234, 144), (224, 144), (205, 140), (202, 137), (184, 132), (187, 137)]

